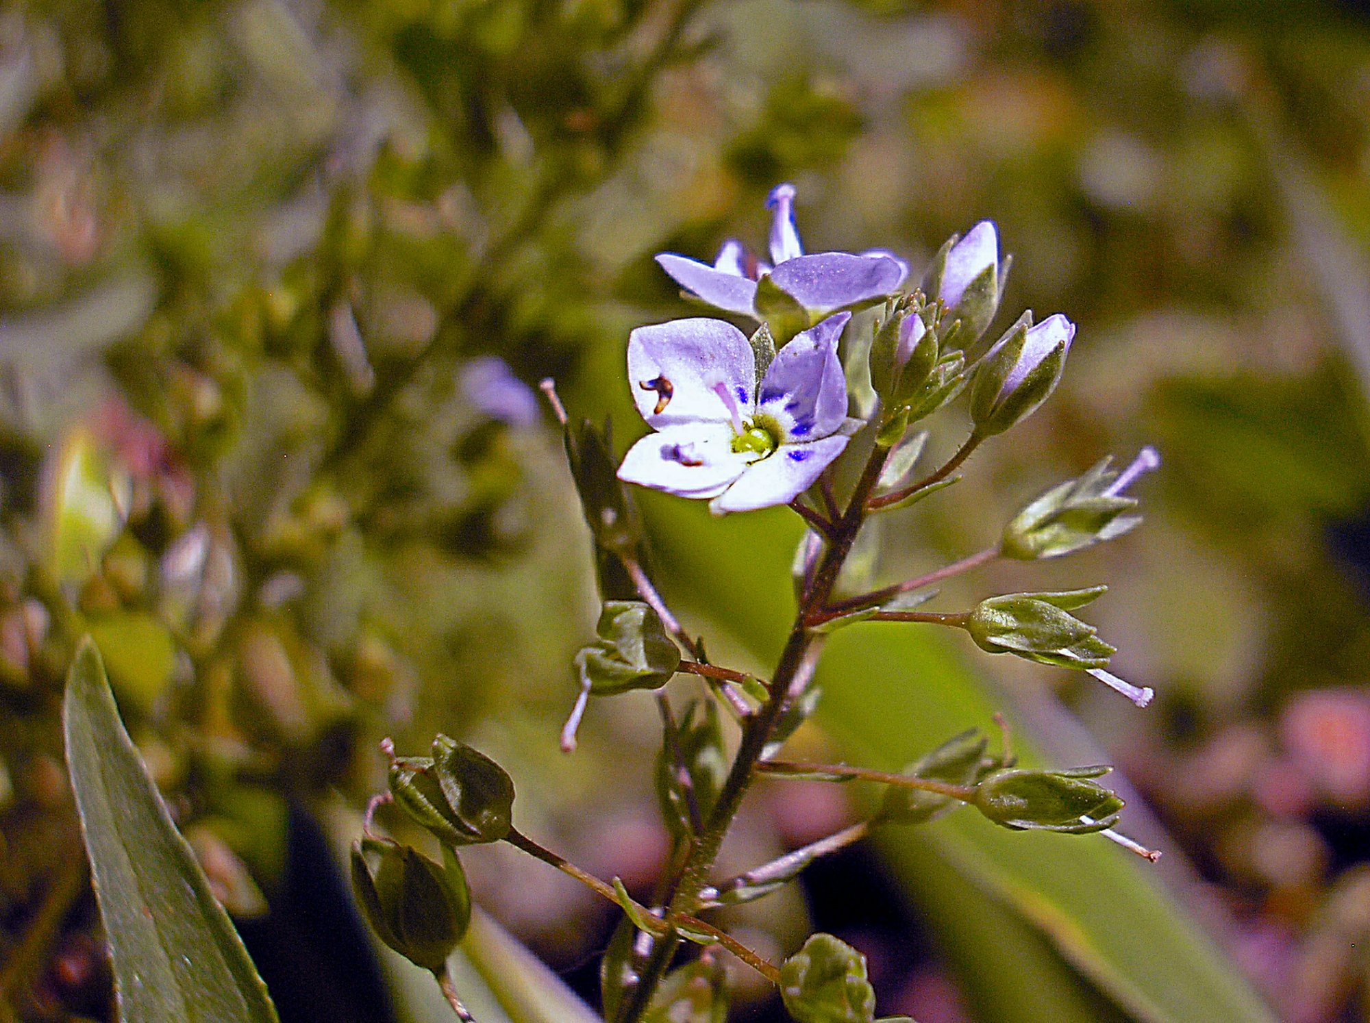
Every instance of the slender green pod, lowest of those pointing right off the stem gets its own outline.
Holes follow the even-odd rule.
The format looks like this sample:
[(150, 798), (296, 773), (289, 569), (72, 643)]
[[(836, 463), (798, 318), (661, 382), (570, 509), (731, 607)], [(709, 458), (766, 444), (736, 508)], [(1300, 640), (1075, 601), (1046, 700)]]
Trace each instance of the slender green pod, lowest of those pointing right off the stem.
[(975, 808), (1000, 827), (1015, 831), (1103, 831), (1118, 823), (1123, 807), (1117, 794), (1092, 781), (1110, 770), (995, 771), (975, 787)]

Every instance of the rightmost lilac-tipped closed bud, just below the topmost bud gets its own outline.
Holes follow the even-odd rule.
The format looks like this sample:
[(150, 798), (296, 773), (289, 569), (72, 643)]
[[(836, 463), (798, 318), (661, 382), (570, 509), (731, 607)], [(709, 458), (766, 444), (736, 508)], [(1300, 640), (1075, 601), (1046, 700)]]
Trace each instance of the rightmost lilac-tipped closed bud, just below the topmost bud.
[(1014, 325), (985, 355), (970, 393), (970, 416), (984, 437), (1022, 422), (1060, 382), (1075, 325), (1059, 312), (1030, 326), (1032, 314)]

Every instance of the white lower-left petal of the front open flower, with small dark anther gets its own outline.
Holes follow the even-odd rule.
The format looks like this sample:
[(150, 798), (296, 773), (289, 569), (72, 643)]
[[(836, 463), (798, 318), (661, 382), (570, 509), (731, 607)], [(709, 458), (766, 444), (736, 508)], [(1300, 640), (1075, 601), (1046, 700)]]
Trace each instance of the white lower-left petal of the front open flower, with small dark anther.
[[(755, 457), (755, 456), (752, 456)], [(723, 423), (685, 423), (649, 433), (623, 456), (618, 478), (680, 497), (715, 497), (747, 468)]]

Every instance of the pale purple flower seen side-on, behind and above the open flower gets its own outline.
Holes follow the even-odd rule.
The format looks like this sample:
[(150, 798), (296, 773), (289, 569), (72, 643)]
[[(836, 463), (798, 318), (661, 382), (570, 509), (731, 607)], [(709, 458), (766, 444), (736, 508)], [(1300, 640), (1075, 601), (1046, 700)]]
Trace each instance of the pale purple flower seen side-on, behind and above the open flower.
[(681, 288), (710, 305), (758, 319), (756, 282), (766, 275), (814, 320), (889, 294), (908, 275), (901, 259), (880, 249), (806, 256), (795, 227), (793, 185), (777, 185), (766, 205), (771, 210), (770, 263), (751, 256), (732, 238), (723, 242), (712, 266), (673, 252), (663, 252), (656, 262)]

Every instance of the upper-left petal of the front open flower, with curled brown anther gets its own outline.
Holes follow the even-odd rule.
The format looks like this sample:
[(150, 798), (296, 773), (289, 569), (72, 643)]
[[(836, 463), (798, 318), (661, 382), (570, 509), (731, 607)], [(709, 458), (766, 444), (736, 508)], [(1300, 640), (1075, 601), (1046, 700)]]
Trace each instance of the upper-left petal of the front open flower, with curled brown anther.
[(732, 422), (718, 388), (727, 389), (743, 416), (749, 415), (756, 356), (747, 336), (732, 323), (703, 316), (675, 319), (632, 333), (627, 382), (637, 411), (655, 427)]

